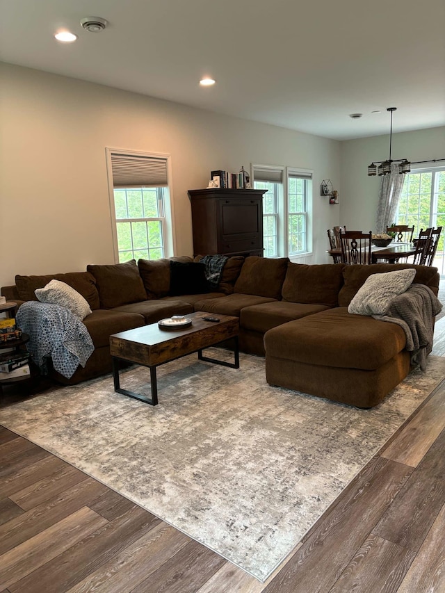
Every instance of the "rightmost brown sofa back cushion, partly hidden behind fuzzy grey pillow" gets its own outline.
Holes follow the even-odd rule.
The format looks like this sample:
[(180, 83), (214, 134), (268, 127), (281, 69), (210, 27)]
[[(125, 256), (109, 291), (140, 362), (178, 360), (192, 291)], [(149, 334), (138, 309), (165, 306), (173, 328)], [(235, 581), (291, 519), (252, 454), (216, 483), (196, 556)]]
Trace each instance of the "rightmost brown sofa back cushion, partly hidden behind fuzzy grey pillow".
[(348, 304), (353, 300), (371, 274), (382, 274), (393, 272), (394, 270), (405, 270), (406, 268), (414, 268), (416, 270), (412, 284), (425, 284), (437, 295), (439, 291), (439, 273), (437, 272), (437, 268), (414, 266), (412, 263), (373, 263), (371, 266), (356, 264), (355, 266), (344, 266), (343, 268), (344, 284), (339, 292), (339, 306), (348, 307)]

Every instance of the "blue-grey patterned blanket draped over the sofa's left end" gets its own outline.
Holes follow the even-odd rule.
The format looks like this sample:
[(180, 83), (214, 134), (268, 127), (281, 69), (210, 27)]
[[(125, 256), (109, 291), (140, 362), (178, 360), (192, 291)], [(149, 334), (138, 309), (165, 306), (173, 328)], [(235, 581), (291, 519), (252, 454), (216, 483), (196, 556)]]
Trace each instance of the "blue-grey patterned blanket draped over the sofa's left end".
[(54, 369), (70, 379), (81, 364), (85, 366), (95, 347), (86, 326), (70, 309), (58, 304), (27, 301), (15, 316), (17, 327), (29, 334), (28, 350), (42, 373), (46, 358)]

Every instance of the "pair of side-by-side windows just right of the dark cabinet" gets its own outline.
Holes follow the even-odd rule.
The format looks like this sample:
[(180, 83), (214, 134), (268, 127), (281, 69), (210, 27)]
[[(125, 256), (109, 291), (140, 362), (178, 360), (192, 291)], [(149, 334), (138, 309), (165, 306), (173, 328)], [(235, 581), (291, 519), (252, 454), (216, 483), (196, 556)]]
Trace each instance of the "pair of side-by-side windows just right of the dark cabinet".
[(264, 256), (307, 253), (312, 172), (253, 165), (253, 179), (255, 189), (268, 190), (263, 198)]

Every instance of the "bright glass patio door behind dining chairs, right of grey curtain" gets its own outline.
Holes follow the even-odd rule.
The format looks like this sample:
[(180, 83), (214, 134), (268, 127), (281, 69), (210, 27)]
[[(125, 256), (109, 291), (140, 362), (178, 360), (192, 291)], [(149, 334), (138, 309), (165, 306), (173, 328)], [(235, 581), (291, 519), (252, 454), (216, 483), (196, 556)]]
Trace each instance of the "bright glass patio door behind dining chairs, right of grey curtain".
[[(445, 227), (445, 170), (432, 168), (405, 174), (395, 222), (397, 225), (414, 225), (414, 236), (420, 229)], [(441, 274), (445, 271), (444, 232), (432, 263)]]

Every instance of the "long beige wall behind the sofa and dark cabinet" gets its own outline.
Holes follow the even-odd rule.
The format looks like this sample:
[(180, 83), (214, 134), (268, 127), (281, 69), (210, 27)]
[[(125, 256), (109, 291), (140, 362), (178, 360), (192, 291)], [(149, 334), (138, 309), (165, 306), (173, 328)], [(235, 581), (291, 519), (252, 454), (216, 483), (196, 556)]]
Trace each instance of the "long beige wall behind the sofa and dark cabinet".
[(314, 252), (303, 261), (329, 261), (339, 206), (319, 186), (341, 190), (337, 141), (10, 64), (0, 74), (0, 286), (113, 263), (105, 147), (172, 155), (177, 254), (193, 252), (187, 190), (211, 170), (313, 169)]

